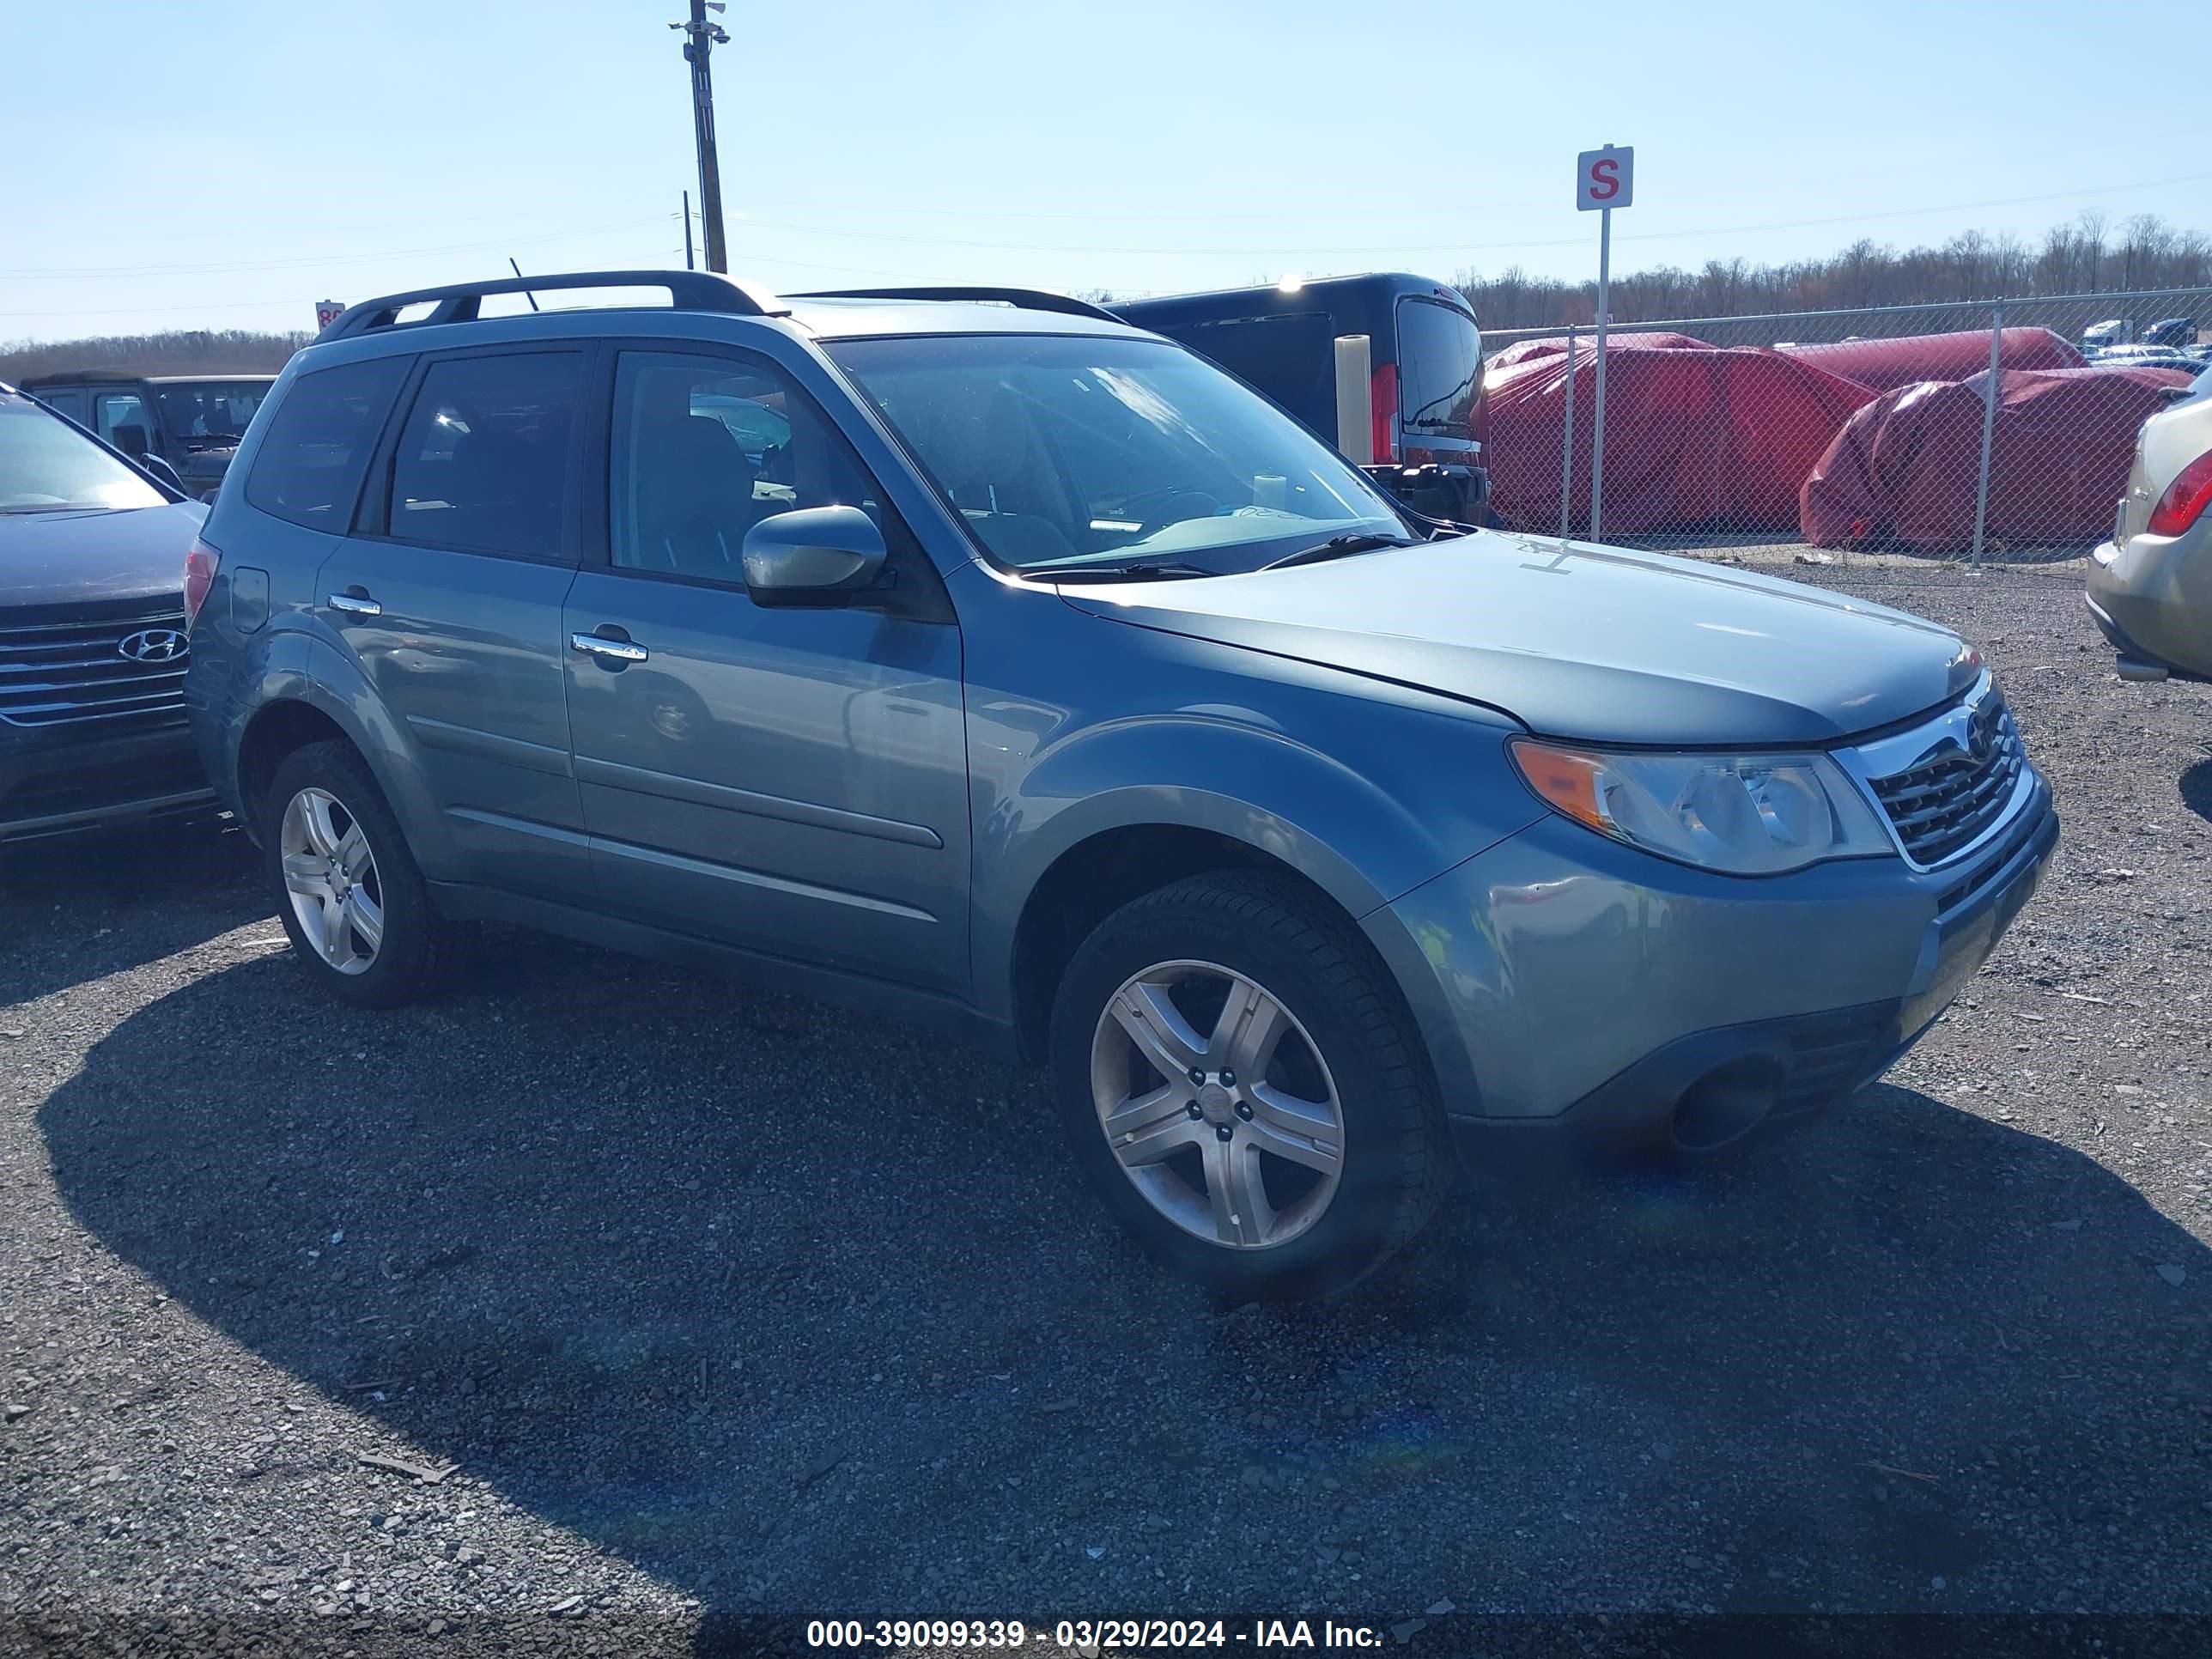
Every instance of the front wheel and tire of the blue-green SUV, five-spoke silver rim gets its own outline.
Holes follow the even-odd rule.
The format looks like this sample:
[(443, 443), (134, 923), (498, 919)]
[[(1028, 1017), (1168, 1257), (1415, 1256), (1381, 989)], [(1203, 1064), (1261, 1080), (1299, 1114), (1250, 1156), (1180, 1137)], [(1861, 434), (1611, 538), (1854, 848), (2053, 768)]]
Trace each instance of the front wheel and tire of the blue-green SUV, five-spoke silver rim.
[(1108, 1212), (1221, 1296), (1358, 1283), (1420, 1232), (1451, 1170), (1383, 962), (1267, 876), (1197, 876), (1108, 916), (1062, 978), (1051, 1068)]

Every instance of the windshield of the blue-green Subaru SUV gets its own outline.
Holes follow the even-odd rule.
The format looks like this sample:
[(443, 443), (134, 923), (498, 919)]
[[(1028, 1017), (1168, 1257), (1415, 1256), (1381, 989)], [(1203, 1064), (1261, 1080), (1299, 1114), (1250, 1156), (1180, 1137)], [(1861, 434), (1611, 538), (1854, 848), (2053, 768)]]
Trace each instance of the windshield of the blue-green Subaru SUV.
[(1164, 341), (936, 334), (827, 352), (1020, 571), (1172, 557), (1230, 575), (1336, 535), (1407, 535), (1358, 469)]

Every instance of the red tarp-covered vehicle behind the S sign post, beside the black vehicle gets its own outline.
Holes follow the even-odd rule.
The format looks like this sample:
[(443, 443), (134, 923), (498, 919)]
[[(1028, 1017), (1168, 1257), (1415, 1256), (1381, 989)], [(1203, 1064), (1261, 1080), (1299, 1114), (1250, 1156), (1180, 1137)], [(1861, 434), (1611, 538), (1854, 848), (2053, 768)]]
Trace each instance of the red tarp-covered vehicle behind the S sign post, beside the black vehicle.
[[(1593, 356), (1577, 343), (1571, 531), (1590, 522)], [(1504, 369), (1493, 361), (1484, 456), (1491, 507), (1509, 524), (1559, 526), (1566, 394), (1564, 354)], [(1767, 349), (1650, 347), (1615, 356), (1608, 345), (1604, 533), (1717, 522), (1792, 529), (1798, 484), (1871, 396), (1863, 385)]]

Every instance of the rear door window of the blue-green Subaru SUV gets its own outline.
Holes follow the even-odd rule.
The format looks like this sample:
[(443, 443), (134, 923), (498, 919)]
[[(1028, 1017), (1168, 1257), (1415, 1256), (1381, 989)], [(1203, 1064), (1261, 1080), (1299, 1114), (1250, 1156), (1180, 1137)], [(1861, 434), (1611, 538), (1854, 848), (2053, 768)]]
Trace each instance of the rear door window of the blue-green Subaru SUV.
[(582, 409), (582, 352), (431, 363), (392, 451), (389, 533), (560, 557)]

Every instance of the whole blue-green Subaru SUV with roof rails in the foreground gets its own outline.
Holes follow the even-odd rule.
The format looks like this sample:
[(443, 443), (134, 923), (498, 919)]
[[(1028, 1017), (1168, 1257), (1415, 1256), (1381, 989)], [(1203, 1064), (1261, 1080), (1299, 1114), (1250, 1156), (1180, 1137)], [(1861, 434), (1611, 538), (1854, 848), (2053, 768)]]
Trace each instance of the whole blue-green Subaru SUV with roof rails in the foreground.
[(1455, 1139), (1849, 1095), (2057, 841), (1944, 628), (1420, 520), (1091, 305), (520, 288), (341, 316), (188, 566), (199, 752), (345, 1002), (500, 920), (920, 1020), (1046, 1064), (1152, 1252), (1294, 1296)]

